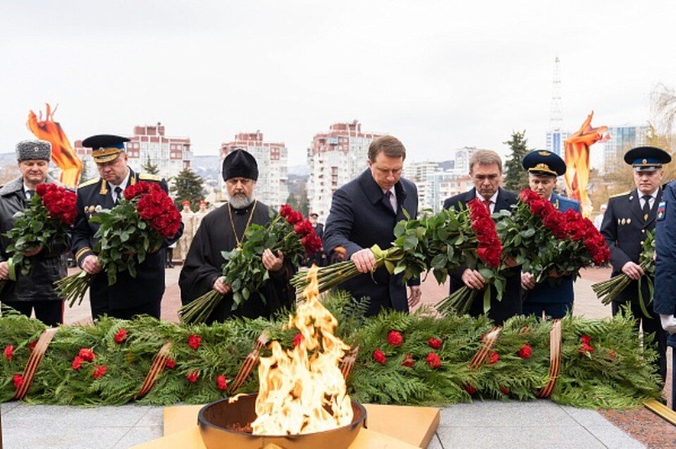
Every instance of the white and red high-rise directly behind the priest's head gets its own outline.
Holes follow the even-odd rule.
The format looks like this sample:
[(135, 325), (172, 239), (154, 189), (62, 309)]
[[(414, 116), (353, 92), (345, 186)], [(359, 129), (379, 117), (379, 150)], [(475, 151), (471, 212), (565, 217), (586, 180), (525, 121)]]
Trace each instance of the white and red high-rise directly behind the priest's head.
[[(220, 145), (220, 161), (235, 150), (244, 150), (251, 153), (258, 164), (258, 182), (256, 182), (256, 198), (263, 203), (278, 208), (289, 198), (287, 185), (287, 165), (289, 155), (287, 147), (282, 142), (265, 142), (263, 133), (241, 132), (234, 137), (234, 141)], [(221, 179), (221, 189), (225, 191), (225, 182)]]

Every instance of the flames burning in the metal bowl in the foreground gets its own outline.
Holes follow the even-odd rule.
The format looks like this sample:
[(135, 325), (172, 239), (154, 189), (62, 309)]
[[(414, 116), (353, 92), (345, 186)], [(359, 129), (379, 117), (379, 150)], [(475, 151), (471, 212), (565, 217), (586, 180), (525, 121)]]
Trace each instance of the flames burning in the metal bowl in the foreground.
[(273, 341), (273, 355), (258, 365), (255, 435), (298, 435), (326, 431), (352, 421), (352, 407), (339, 362), (349, 350), (334, 335), (336, 318), (319, 301), (317, 267), (303, 296), (306, 303), (289, 317), (303, 338), (292, 350)]

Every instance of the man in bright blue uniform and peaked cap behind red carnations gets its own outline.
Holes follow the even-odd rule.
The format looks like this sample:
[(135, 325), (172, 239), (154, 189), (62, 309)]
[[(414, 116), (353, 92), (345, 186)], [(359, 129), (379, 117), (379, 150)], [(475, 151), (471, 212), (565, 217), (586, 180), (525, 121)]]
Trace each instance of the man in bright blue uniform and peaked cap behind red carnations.
[[(528, 170), (528, 186), (540, 198), (549, 199), (553, 206), (565, 212), (568, 209), (580, 212), (580, 203), (554, 193), (556, 177), (565, 173), (565, 162), (549, 151), (532, 151), (523, 158), (523, 167)], [(521, 274), (521, 287), (526, 291), (523, 302), (524, 315), (563, 318), (572, 310), (575, 293), (572, 277), (561, 276), (535, 284), (530, 273)]]

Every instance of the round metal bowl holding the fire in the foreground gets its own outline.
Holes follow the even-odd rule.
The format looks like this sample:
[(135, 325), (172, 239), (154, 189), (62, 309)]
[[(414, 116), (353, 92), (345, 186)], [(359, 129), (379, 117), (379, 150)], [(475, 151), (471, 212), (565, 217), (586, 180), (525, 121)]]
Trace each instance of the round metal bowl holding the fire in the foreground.
[(207, 449), (216, 448), (284, 448), (284, 449), (346, 449), (356, 438), (359, 430), (366, 426), (366, 409), (352, 401), (353, 418), (346, 426), (323, 432), (303, 435), (252, 435), (230, 429), (239, 424), (246, 426), (256, 420), (256, 397), (251, 394), (240, 396), (230, 404), (227, 399), (205, 405), (197, 415), (199, 433)]

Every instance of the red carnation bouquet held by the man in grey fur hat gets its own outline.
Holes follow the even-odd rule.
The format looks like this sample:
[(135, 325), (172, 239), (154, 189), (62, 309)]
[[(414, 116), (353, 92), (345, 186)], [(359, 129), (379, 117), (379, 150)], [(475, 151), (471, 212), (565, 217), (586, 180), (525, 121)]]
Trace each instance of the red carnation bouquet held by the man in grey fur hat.
[[(38, 248), (68, 244), (68, 228), (75, 222), (75, 192), (56, 184), (38, 184), (27, 208), (14, 215), (15, 222), (6, 236), (11, 240), (6, 251), (9, 278), (16, 280), (16, 270), (24, 276), (30, 272), (30, 255)], [(0, 289), (6, 284), (0, 281)]]

